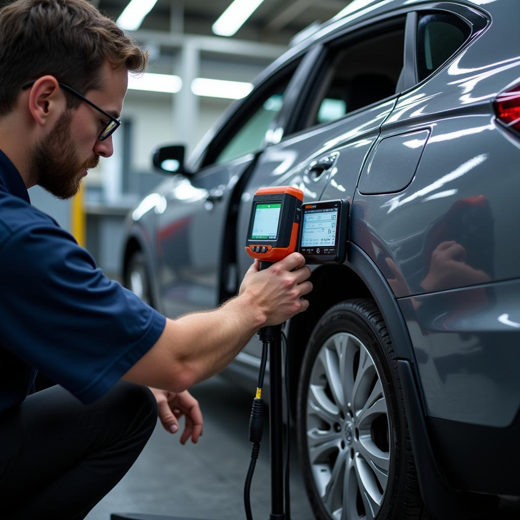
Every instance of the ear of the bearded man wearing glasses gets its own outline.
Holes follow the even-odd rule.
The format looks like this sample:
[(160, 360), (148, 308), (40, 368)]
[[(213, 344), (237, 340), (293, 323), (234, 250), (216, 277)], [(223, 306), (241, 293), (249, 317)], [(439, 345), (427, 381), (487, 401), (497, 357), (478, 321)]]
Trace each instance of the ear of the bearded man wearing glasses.
[(65, 106), (65, 96), (54, 76), (42, 76), (34, 82), (29, 92), (29, 111), (38, 125), (56, 119)]

